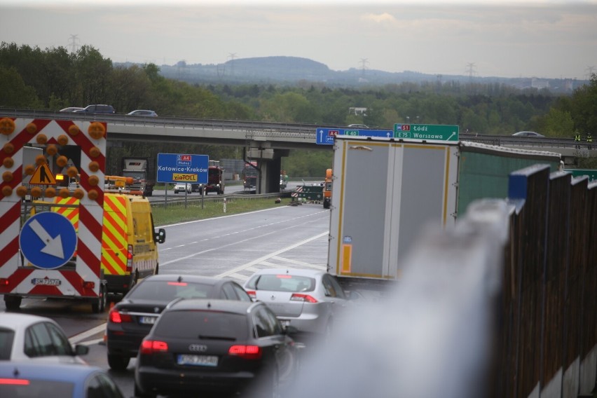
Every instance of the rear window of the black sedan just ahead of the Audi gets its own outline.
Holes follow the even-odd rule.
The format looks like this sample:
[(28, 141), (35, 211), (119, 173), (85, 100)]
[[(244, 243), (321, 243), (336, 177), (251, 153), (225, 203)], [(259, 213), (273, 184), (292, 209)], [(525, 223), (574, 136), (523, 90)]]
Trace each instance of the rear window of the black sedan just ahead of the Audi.
[(130, 292), (130, 300), (172, 301), (183, 299), (209, 298), (211, 284), (187, 283), (166, 280), (146, 280)]

